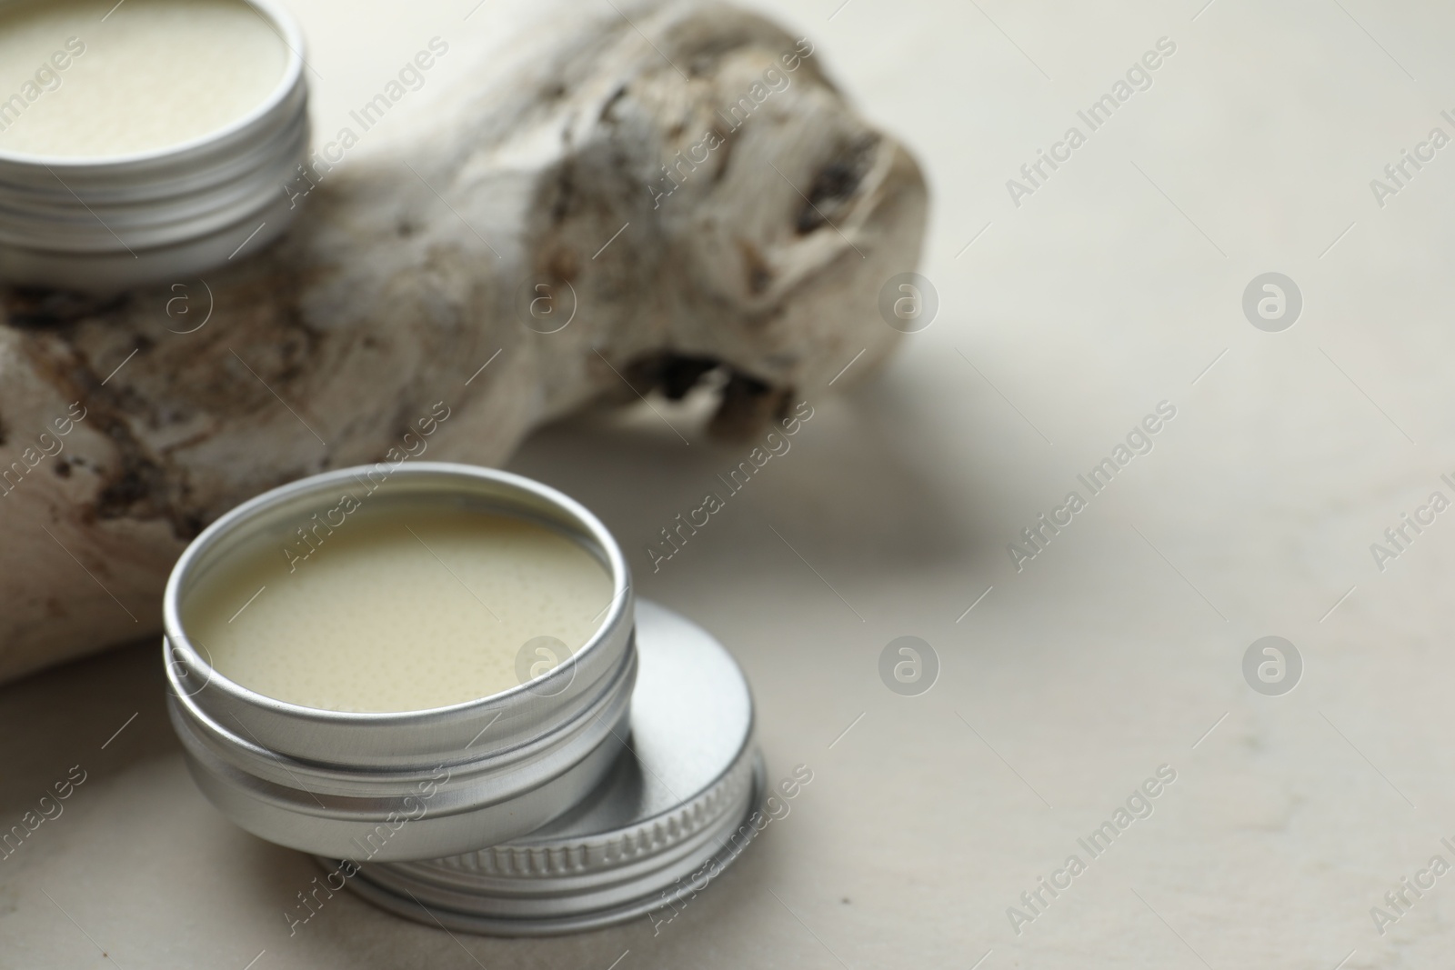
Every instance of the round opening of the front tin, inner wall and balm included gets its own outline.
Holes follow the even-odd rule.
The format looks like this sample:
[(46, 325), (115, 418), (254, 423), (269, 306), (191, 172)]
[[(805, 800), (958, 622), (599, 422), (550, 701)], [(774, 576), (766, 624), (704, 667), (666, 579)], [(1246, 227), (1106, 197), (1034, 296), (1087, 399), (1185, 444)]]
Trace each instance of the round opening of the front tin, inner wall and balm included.
[(176, 615), (205, 676), (356, 714), (563, 691), (621, 593), (586, 524), (445, 481), (371, 484), (281, 496), (202, 544)]

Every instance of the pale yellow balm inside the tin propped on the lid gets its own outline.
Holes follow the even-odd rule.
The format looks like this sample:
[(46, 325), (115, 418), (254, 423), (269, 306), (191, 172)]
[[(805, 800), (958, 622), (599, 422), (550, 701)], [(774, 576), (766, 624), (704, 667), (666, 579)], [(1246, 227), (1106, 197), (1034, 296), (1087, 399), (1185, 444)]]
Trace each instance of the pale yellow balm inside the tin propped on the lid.
[(307, 540), (212, 567), (182, 615), (223, 676), (303, 707), (416, 711), (498, 694), (521, 682), (522, 646), (554, 637), (576, 653), (613, 599), (582, 545), (501, 515), (371, 516), (365, 500)]

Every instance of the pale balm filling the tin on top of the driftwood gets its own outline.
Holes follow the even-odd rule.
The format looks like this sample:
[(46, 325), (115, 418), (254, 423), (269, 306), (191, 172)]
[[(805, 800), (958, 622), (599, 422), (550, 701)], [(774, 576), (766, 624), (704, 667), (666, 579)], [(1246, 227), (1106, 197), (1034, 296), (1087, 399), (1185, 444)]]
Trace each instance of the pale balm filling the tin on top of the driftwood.
[(242, 0), (0, 3), (0, 151), (129, 156), (221, 131), (290, 51)]

